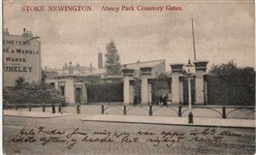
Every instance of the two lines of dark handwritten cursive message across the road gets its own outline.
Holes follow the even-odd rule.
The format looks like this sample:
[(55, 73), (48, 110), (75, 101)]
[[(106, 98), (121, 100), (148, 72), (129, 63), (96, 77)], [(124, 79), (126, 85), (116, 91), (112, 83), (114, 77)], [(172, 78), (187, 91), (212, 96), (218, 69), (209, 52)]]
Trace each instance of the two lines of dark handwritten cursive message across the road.
[(86, 132), (80, 128), (76, 128), (71, 132), (61, 131), (58, 129), (47, 129), (45, 127), (27, 128), (23, 127), (16, 137), (9, 140), (12, 142), (39, 142), (42, 145), (48, 144), (65, 144), (68, 149), (72, 149), (78, 142), (122, 142), (137, 143), (145, 142), (157, 147), (164, 144), (171, 147), (176, 143), (183, 144), (185, 142), (210, 142), (219, 144), (225, 141), (227, 137), (241, 137), (240, 134), (232, 133), (229, 130), (221, 130), (216, 128), (205, 128), (202, 130), (191, 130), (189, 132), (179, 131), (138, 131), (129, 132), (110, 132), (108, 130)]

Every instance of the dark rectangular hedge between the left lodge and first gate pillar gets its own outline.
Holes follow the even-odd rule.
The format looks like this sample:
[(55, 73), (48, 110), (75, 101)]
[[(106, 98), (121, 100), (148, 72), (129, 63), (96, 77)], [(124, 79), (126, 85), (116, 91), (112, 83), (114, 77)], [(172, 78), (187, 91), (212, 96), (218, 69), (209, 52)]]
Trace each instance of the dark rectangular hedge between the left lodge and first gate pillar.
[(88, 102), (123, 102), (123, 82), (89, 84)]

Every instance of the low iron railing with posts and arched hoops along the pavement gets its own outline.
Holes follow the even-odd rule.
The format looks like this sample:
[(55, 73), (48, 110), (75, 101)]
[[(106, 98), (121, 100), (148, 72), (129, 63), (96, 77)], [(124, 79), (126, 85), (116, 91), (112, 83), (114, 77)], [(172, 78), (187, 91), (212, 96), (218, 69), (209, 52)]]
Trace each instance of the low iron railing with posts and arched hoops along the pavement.
[[(84, 105), (86, 107), (86, 105)], [(3, 109), (21, 109), (25, 108), (31, 111), (33, 108), (42, 108), (43, 112), (46, 111), (47, 108), (52, 109), (52, 113), (55, 113), (55, 108), (58, 107), (58, 112), (62, 112), (63, 109), (61, 104), (9, 104), (8, 102), (3, 102)], [(80, 104), (75, 104), (76, 112), (80, 114)], [(158, 105), (112, 105), (112, 104), (103, 104), (101, 105), (101, 113), (105, 114), (108, 109), (117, 109), (120, 113), (127, 115), (133, 109), (143, 109), (148, 113), (149, 116), (152, 116), (156, 111), (161, 109), (171, 109), (175, 112), (178, 117), (182, 117), (184, 112), (188, 109), (188, 106), (181, 105), (168, 105), (168, 106), (158, 106)], [(192, 109), (209, 109), (218, 113), (222, 118), (227, 118), (228, 115), (233, 113), (234, 111), (240, 109), (248, 109), (255, 112), (256, 108), (254, 106), (193, 106)]]

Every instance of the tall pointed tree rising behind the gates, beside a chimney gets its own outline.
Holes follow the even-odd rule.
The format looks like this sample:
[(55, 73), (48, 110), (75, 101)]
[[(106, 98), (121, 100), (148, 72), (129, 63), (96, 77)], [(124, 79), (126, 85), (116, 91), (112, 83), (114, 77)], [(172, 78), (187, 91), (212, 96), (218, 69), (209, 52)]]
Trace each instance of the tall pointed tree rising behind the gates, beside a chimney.
[(106, 56), (106, 62), (105, 67), (107, 69), (108, 75), (118, 75), (120, 72), (120, 57), (117, 53), (117, 49), (114, 46), (114, 42), (111, 41), (106, 47), (107, 53)]

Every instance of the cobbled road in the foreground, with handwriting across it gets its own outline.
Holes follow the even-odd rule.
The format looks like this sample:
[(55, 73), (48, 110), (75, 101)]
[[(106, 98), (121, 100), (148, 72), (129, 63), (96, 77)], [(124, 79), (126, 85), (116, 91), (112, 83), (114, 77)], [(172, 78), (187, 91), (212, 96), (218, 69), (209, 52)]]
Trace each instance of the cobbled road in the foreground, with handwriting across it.
[(254, 154), (255, 129), (4, 116), (6, 154)]

